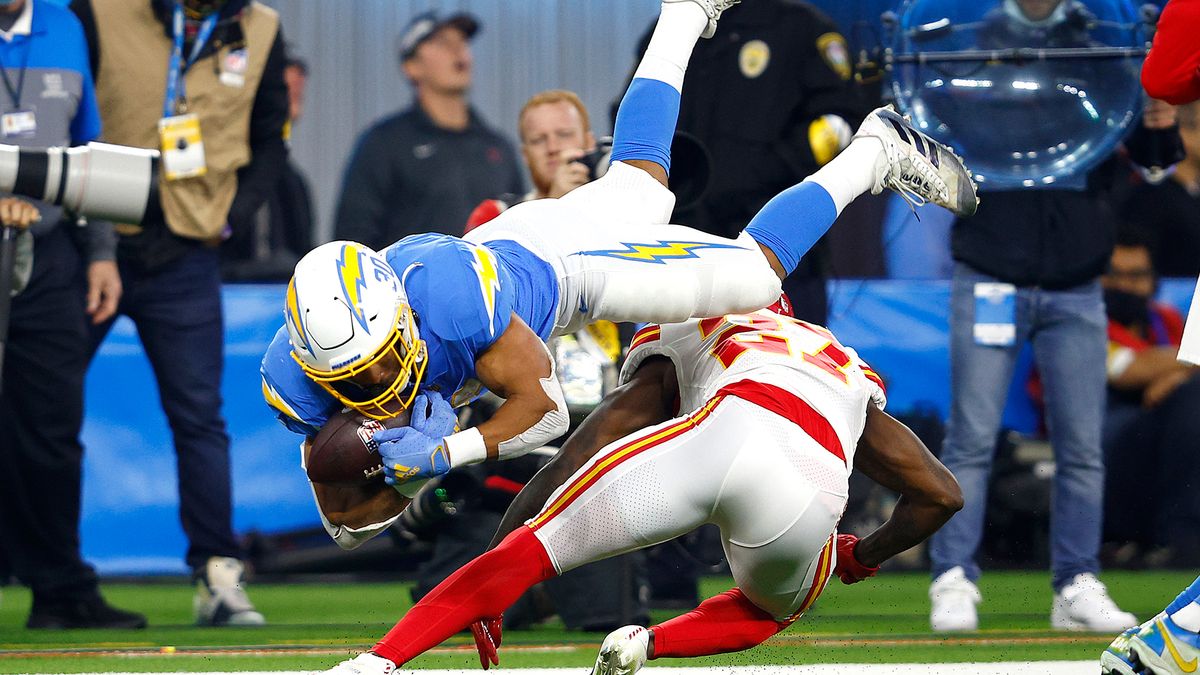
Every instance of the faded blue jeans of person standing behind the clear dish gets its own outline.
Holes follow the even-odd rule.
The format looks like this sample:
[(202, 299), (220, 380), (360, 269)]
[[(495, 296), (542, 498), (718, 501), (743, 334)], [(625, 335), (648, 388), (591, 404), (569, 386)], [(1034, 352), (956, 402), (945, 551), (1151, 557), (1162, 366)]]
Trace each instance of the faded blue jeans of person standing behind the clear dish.
[(962, 567), (979, 578), (976, 552), (983, 538), (988, 477), (1001, 414), (1018, 353), (1033, 342), (1045, 388), (1055, 479), (1050, 513), (1051, 583), (1099, 572), (1097, 554), (1104, 503), (1104, 413), (1106, 318), (1099, 282), (1064, 291), (1018, 288), (1016, 340), (1010, 347), (974, 341), (974, 285), (998, 281), (965, 264), (954, 268), (950, 297), (950, 420), (941, 460), (962, 488), (964, 507), (934, 534), (936, 578)]

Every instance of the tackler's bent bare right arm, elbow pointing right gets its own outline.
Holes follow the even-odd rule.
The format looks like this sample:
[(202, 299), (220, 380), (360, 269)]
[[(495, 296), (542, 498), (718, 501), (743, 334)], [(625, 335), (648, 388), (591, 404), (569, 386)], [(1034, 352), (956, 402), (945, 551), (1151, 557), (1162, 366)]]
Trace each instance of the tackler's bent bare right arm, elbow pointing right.
[(866, 567), (878, 567), (925, 540), (962, 508), (962, 490), (954, 476), (907, 426), (874, 405), (868, 405), (854, 468), (900, 492), (892, 518), (853, 549)]

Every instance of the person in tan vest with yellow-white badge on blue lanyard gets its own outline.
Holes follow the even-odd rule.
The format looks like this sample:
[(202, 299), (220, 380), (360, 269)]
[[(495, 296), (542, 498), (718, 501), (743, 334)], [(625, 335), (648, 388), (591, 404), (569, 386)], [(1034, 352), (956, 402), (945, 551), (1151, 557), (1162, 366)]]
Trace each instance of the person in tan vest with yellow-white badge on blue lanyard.
[[(262, 623), (233, 533), (217, 245), (227, 223), (262, 207), (287, 162), (278, 14), (251, 0), (72, 8), (91, 47), (104, 141), (162, 150), (160, 198), (140, 225), (118, 225), (119, 311), (137, 324), (174, 435), (196, 619)], [(112, 325), (96, 327), (94, 350)]]

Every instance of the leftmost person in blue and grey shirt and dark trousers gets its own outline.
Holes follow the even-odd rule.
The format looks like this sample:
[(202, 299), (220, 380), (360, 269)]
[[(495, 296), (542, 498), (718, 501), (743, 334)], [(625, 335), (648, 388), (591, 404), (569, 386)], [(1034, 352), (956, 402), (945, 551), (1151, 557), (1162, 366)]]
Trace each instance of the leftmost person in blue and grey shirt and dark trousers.
[[(71, 12), (42, 0), (0, 6), (0, 142), (48, 148), (100, 136), (88, 44)], [(79, 554), (88, 317), (107, 321), (121, 294), (112, 223), (80, 229), (56, 207), (5, 197), (0, 225), (29, 227), (35, 241), (4, 352), (0, 560), (32, 591), (29, 628), (142, 628), (145, 616), (104, 602)]]

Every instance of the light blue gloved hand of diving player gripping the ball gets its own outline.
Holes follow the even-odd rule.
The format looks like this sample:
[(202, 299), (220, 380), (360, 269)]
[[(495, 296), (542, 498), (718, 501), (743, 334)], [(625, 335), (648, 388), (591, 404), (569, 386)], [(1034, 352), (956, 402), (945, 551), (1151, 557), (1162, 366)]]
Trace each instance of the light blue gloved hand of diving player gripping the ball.
[(450, 471), (445, 437), (457, 430), (458, 417), (437, 392), (413, 401), (409, 426), (384, 429), (374, 435), (389, 485), (427, 479)]

